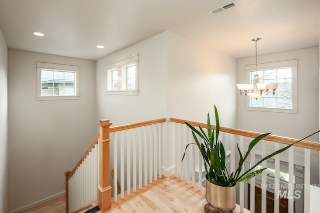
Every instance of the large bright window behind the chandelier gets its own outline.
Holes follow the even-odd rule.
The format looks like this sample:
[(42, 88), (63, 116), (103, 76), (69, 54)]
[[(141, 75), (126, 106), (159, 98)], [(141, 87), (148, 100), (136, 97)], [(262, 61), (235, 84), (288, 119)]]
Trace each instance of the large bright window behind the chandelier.
[(253, 83), (253, 75), (259, 75), (260, 83), (277, 82), (274, 95), (269, 92), (262, 98), (248, 98), (247, 109), (258, 111), (296, 113), (296, 76), (297, 60), (258, 64), (257, 71), (252, 65), (246, 66), (249, 82)]

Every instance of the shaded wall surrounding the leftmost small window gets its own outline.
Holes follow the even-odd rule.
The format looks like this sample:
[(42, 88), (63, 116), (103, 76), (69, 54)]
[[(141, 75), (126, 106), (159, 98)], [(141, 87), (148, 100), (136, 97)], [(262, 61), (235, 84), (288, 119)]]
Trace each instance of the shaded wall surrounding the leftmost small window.
[[(36, 101), (36, 62), (80, 66), (80, 99)], [(9, 208), (64, 191), (71, 170), (98, 132), (95, 62), (8, 51)]]

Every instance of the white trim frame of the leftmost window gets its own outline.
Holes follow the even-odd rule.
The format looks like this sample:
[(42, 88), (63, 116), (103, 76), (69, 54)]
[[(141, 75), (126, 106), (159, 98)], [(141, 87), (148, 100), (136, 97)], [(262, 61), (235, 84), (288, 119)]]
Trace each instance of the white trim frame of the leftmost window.
[[(63, 96), (41, 96), (41, 69), (52, 70), (52, 71), (71, 71), (75, 74), (75, 95), (63, 95)], [(79, 66), (63, 65), (63, 64), (53, 64), (53, 63), (43, 63), (36, 62), (36, 100), (75, 100), (80, 99), (80, 89), (79, 89)]]

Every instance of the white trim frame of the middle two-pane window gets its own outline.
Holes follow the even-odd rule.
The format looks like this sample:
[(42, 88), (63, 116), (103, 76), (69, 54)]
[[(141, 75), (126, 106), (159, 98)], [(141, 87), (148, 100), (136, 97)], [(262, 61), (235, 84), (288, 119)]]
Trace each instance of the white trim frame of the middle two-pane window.
[[(122, 90), (121, 86), (124, 81), (118, 79), (118, 90), (109, 90), (110, 86), (109, 82), (111, 82), (111, 75), (108, 74), (107, 70), (112, 68), (118, 67), (118, 72), (121, 72), (121, 78), (125, 78), (126, 74), (125, 71), (121, 70), (122, 66), (135, 63), (135, 89), (134, 90)], [(119, 69), (120, 68), (120, 69)], [(138, 95), (138, 54), (131, 55), (126, 58), (122, 58), (117, 61), (113, 61), (111, 63), (106, 64), (106, 91), (105, 94), (107, 95)]]

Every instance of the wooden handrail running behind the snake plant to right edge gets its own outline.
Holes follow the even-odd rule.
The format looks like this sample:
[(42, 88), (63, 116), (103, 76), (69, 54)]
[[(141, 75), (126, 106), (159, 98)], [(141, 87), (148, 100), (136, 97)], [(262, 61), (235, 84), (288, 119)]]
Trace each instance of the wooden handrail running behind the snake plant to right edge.
[[(184, 122), (187, 122), (188, 124), (190, 124), (192, 126), (200, 126), (201, 128), (206, 128), (206, 124), (198, 123), (198, 122), (194, 122), (194, 121), (187, 121), (187, 120), (182, 120), (182, 119), (177, 119), (177, 118), (170, 118), (170, 121), (174, 122), (174, 123), (180, 123), (180, 124), (185, 124)], [(211, 125), (211, 128), (215, 128), (215, 126)], [(255, 138), (255, 137), (262, 134), (262, 133), (258, 133), (258, 132), (251, 132), (251, 131), (246, 131), (246, 130), (221, 127), (221, 126), (220, 126), (220, 131), (235, 134), (235, 135), (250, 137), (250, 138)], [(267, 141), (276, 142), (276, 143), (280, 143), (280, 144), (286, 144), (286, 145), (292, 144), (297, 141), (297, 139), (280, 137), (280, 136), (275, 136), (275, 135), (268, 135), (268, 136), (264, 137), (264, 139)], [(294, 144), (293, 146), (297, 146), (297, 147), (301, 147), (301, 148), (305, 148), (305, 149), (311, 149), (311, 150), (315, 150), (315, 151), (320, 151), (320, 143), (311, 142), (311, 141), (301, 141), (297, 144)]]

